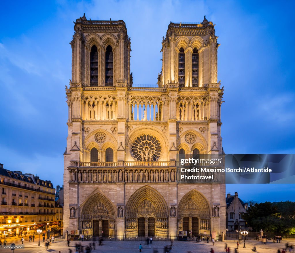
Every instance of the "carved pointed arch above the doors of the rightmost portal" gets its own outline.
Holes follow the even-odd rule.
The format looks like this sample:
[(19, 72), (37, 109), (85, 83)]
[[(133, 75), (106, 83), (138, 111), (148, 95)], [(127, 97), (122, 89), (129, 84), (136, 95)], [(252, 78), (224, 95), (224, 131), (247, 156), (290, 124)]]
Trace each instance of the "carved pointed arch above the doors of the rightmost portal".
[(179, 201), (177, 208), (177, 218), (198, 217), (210, 218), (210, 208), (206, 197), (193, 189), (186, 193)]

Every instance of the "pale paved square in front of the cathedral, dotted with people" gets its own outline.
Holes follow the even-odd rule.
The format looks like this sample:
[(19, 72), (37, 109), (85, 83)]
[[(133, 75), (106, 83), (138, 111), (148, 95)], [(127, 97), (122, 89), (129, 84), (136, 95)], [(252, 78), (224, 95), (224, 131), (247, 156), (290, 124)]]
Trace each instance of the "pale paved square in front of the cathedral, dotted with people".
[[(276, 244), (276, 243), (268, 243), (266, 245), (262, 245), (261, 242), (255, 241), (255, 240), (249, 240), (246, 241), (246, 248), (243, 249), (243, 243), (240, 245), (240, 248), (238, 249), (239, 253), (246, 253), (246, 252), (252, 252), (252, 247), (256, 246), (257, 252), (259, 253), (276, 253), (278, 249), (282, 249), (285, 247), (284, 245), (286, 243), (295, 245), (295, 239), (289, 239), (285, 240), (282, 243)], [(153, 249), (158, 249), (159, 253), (163, 252), (163, 248), (165, 245), (170, 244), (168, 241), (153, 241), (153, 244), (146, 245), (144, 241), (104, 241), (103, 246), (98, 246), (96, 243), (95, 249), (92, 250), (93, 253), (135, 253), (139, 252), (138, 247), (139, 244), (142, 244), (143, 253), (152, 253)], [(209, 253), (210, 249), (213, 248), (215, 253), (225, 252), (224, 245), (227, 243), (227, 245), (230, 247), (230, 252), (234, 253), (236, 248), (236, 241), (226, 241), (226, 242), (215, 242), (215, 245), (212, 246), (212, 242), (206, 243), (196, 243), (196, 242), (182, 242), (182, 241), (174, 241), (173, 242), (173, 248), (171, 250), (171, 253)], [(68, 253), (69, 249), (72, 250), (73, 253), (75, 253), (75, 242), (71, 241), (70, 247), (67, 247), (66, 241), (56, 241), (54, 244), (50, 244), (49, 250), (45, 250), (45, 245), (43, 242), (41, 242), (41, 247), (38, 247), (38, 242), (26, 242), (24, 249), (16, 249), (14, 253), (26, 253), (26, 252), (32, 252), (32, 253), (49, 253), (49, 252), (56, 252), (58, 253)], [(89, 241), (83, 241), (83, 246), (86, 247), (89, 245)], [(7, 244), (9, 245), (9, 244)], [(16, 243), (16, 245), (20, 245), (19, 243)], [(2, 248), (0, 248), (0, 252), (2, 253), (8, 253), (12, 252), (10, 249), (4, 249), (4, 246), (2, 244)], [(289, 252), (289, 251), (288, 251)]]

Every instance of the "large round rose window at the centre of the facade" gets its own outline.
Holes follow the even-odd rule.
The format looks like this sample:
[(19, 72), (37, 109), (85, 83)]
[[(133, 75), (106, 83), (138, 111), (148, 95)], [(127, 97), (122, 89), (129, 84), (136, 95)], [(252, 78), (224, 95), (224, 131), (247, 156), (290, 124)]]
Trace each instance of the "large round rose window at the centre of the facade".
[(133, 157), (141, 162), (157, 161), (161, 155), (161, 150), (162, 146), (159, 140), (150, 134), (140, 135), (131, 146)]

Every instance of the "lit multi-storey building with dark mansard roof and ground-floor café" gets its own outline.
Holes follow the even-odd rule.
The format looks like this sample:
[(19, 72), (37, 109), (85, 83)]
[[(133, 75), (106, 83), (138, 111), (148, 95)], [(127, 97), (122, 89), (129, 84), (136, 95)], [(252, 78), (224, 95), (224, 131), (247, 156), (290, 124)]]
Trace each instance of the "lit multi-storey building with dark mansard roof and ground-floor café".
[(58, 216), (56, 219), (55, 189), (49, 180), (6, 170), (0, 164), (0, 187), (1, 233), (18, 234), (20, 231), (60, 226), (62, 218)]

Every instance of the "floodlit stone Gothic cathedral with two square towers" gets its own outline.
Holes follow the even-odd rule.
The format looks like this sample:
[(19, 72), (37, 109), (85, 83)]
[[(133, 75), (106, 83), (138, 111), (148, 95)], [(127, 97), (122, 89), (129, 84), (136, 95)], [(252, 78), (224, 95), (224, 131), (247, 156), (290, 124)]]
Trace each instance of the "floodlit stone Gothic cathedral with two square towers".
[(179, 155), (222, 153), (214, 24), (171, 22), (150, 88), (133, 85), (124, 21), (84, 14), (74, 23), (64, 231), (117, 238), (225, 232), (225, 184), (178, 183), (176, 173)]

